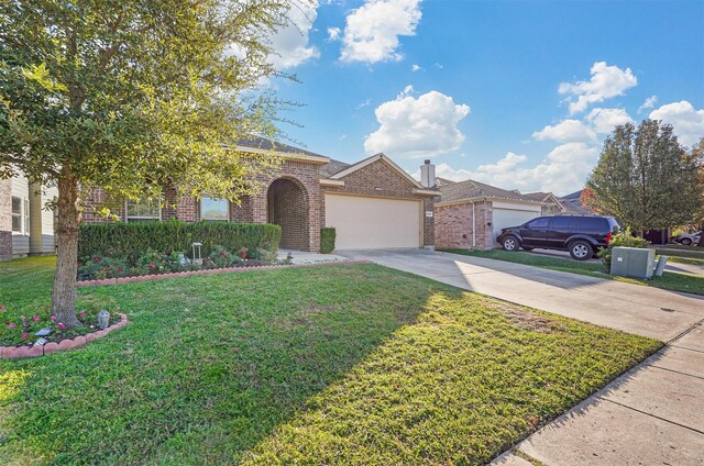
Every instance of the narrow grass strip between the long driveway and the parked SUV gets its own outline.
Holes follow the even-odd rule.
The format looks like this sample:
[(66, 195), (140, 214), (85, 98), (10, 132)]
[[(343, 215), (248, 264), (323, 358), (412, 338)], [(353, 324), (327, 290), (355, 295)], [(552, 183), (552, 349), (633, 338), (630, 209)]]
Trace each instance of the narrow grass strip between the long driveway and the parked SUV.
[(675, 274), (666, 271), (662, 277), (653, 277), (651, 280), (617, 277), (606, 273), (601, 262), (580, 262), (569, 257), (551, 257), (525, 251), (507, 252), (502, 249), (470, 251), (470, 249), (438, 249), (444, 253), (461, 254), (464, 256), (485, 257), (487, 259), (505, 260), (516, 264), (531, 265), (534, 267), (549, 268), (552, 270), (569, 271), (571, 274), (588, 275), (591, 277), (606, 278), (627, 284), (645, 285), (662, 288), (670, 291), (684, 291), (695, 295), (704, 295), (704, 277), (690, 274)]

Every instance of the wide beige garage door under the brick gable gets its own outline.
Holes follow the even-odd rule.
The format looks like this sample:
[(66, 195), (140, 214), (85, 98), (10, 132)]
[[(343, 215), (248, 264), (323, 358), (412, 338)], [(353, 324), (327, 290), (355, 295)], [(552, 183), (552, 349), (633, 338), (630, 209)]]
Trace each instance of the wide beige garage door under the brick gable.
[(338, 249), (421, 246), (420, 201), (326, 195), (326, 224)]

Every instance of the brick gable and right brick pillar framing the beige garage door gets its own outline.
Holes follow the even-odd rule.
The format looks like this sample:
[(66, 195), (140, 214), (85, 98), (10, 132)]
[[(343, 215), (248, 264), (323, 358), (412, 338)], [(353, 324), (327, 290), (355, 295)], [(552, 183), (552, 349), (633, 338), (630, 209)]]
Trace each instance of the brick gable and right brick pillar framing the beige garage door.
[(376, 160), (343, 177), (342, 180), (344, 187), (326, 187), (324, 191), (422, 200), (424, 245), (435, 244), (433, 218), (426, 217), (426, 212), (432, 212), (436, 198), (414, 193), (417, 187), (387, 163)]

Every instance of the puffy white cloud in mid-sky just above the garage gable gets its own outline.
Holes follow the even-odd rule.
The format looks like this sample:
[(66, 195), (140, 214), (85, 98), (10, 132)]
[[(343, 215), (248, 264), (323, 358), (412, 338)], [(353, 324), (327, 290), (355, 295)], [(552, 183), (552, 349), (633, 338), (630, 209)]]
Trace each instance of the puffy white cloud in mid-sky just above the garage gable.
[(366, 136), (369, 154), (384, 152), (394, 157), (421, 158), (458, 149), (464, 134), (458, 123), (470, 107), (455, 104), (451, 97), (438, 91), (418, 98), (409, 96), (407, 86), (395, 100), (382, 103), (375, 114), (381, 126)]

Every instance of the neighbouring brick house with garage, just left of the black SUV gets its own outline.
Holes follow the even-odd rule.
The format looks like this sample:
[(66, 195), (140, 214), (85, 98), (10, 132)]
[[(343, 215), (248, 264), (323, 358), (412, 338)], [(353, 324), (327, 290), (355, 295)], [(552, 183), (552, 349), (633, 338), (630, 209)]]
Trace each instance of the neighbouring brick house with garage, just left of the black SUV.
[(492, 248), (502, 229), (520, 225), (559, 206), (547, 192), (521, 195), (471, 179), (442, 181), (438, 184), (440, 200), (435, 203), (436, 247)]

